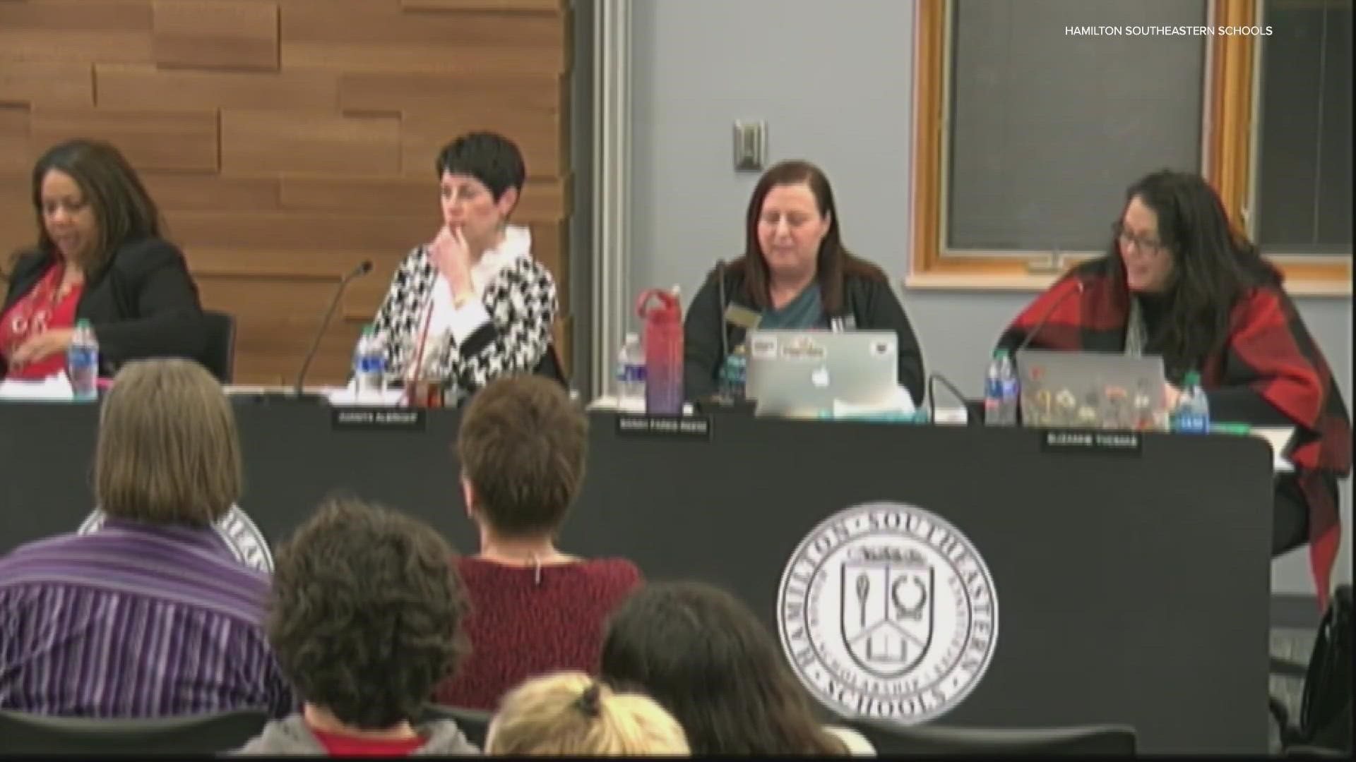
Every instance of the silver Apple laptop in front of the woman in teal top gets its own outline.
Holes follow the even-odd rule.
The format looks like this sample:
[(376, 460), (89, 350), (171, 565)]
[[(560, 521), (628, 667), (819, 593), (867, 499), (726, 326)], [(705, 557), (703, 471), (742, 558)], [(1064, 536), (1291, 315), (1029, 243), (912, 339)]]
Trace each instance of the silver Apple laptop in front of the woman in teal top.
[(834, 400), (883, 403), (899, 385), (894, 331), (753, 329), (744, 396), (758, 415), (831, 412)]

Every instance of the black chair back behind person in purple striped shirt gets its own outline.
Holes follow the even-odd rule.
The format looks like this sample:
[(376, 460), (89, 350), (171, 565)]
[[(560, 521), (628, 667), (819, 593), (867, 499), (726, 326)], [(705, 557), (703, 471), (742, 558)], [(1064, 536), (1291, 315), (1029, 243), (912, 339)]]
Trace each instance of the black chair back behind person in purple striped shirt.
[(47, 717), (0, 710), (0, 753), (71, 754), (217, 754), (259, 735), (263, 709), (233, 709), (180, 717)]

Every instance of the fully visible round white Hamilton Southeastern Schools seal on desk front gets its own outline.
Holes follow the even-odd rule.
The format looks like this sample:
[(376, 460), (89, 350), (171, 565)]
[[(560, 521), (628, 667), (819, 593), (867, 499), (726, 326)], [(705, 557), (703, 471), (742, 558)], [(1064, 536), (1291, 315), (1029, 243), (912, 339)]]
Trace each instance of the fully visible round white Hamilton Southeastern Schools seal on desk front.
[(801, 540), (781, 575), (777, 625), (792, 670), (826, 706), (911, 725), (979, 685), (998, 643), (998, 598), (949, 522), (864, 503)]

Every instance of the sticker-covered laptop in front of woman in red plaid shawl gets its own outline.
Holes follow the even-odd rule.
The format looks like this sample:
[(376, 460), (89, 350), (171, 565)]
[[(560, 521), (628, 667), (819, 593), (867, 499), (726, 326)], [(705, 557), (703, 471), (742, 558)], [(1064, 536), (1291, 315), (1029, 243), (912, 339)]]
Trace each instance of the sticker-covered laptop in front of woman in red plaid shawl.
[(1119, 353), (1017, 353), (1024, 426), (1166, 431), (1163, 358)]

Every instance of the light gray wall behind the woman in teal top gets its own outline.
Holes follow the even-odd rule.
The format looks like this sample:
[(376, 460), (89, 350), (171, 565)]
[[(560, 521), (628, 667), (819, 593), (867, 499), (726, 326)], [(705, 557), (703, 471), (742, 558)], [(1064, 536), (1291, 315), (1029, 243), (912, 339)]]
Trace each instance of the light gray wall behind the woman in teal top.
[[(896, 281), (909, 256), (913, 4), (903, 0), (641, 0), (632, 9), (632, 289), (690, 298), (743, 249), (757, 174), (732, 168), (731, 123), (766, 119), (769, 163), (829, 174), (848, 245)], [(929, 370), (978, 396), (987, 353), (1033, 294), (903, 294)], [(1348, 401), (1352, 301), (1300, 300)], [(1351, 484), (1342, 526), (1351, 527)], [(1352, 578), (1342, 538), (1340, 579)], [(1276, 593), (1311, 593), (1307, 557), (1273, 564)]]

